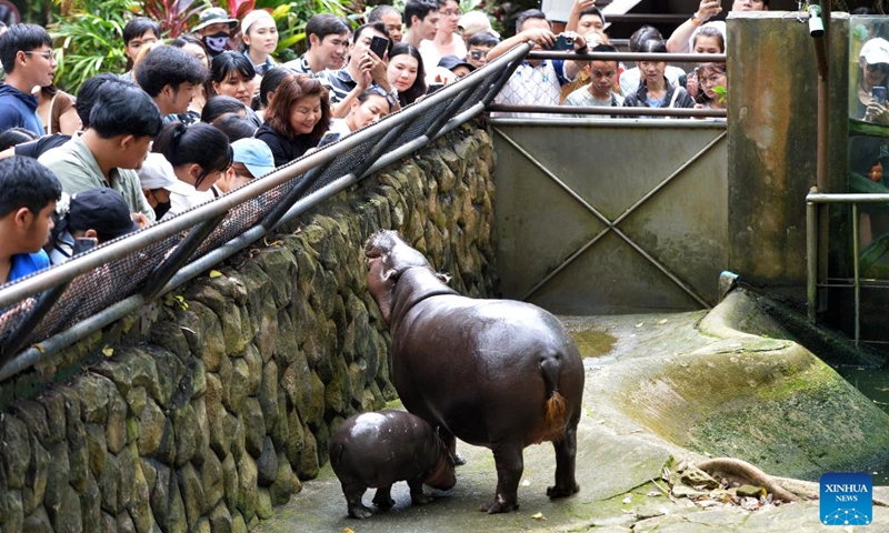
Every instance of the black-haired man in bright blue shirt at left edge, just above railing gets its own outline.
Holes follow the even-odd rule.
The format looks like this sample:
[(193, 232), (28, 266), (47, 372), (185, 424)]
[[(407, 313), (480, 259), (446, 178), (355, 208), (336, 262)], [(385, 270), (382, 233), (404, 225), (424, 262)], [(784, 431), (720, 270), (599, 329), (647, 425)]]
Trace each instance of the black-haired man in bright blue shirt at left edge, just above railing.
[(0, 285), (49, 266), (42, 250), (62, 185), (36, 159), (0, 161)]

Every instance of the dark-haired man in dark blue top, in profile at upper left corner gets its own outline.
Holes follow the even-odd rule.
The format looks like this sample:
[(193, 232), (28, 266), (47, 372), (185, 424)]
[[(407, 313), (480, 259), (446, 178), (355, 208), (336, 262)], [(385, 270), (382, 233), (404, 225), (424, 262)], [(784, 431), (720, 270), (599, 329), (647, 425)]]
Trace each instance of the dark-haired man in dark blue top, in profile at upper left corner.
[(52, 38), (37, 24), (13, 24), (0, 36), (0, 62), (7, 73), (0, 86), (0, 131), (18, 127), (47, 134), (31, 90), (52, 84)]

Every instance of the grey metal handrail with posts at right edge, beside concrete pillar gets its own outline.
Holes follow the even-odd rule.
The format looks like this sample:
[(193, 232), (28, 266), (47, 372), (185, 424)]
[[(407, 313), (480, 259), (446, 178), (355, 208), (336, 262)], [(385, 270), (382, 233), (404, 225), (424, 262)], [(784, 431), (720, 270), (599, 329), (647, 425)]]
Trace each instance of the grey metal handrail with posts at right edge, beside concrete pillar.
[[(818, 319), (819, 301), (818, 289), (827, 286), (838, 286), (820, 281), (818, 272), (818, 227), (821, 214), (819, 205), (829, 204), (851, 204), (852, 208), (852, 291), (855, 294), (855, 348), (861, 343), (861, 272), (859, 266), (858, 252), (860, 248), (858, 235), (858, 205), (889, 203), (889, 194), (886, 193), (821, 193), (817, 188), (812, 188), (806, 195), (806, 300), (809, 321), (816, 323)], [(827, 279), (827, 273), (823, 273)], [(835, 280), (836, 281), (836, 280)], [(840, 280), (843, 281), (843, 280)]]

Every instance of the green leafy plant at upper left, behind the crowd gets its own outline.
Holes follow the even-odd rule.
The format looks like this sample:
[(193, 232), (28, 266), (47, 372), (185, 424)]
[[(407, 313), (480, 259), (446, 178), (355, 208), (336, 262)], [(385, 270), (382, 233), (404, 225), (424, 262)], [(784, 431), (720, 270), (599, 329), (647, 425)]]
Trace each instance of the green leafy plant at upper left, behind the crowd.
[(139, 10), (134, 0), (86, 0), (64, 3), (58, 22), (48, 30), (56, 41), (56, 84), (70, 93), (99, 72), (120, 72), (127, 67), (123, 53), (123, 27)]

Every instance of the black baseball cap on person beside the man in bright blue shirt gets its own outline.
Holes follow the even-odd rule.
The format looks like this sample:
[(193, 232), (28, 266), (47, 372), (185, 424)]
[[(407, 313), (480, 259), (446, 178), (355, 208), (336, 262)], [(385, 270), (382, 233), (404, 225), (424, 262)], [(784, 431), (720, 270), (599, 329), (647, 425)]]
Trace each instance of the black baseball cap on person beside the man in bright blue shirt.
[(68, 225), (73, 230), (96, 230), (101, 239), (111, 240), (139, 229), (130, 218), (123, 197), (108, 187), (97, 187), (71, 194), (68, 202)]

